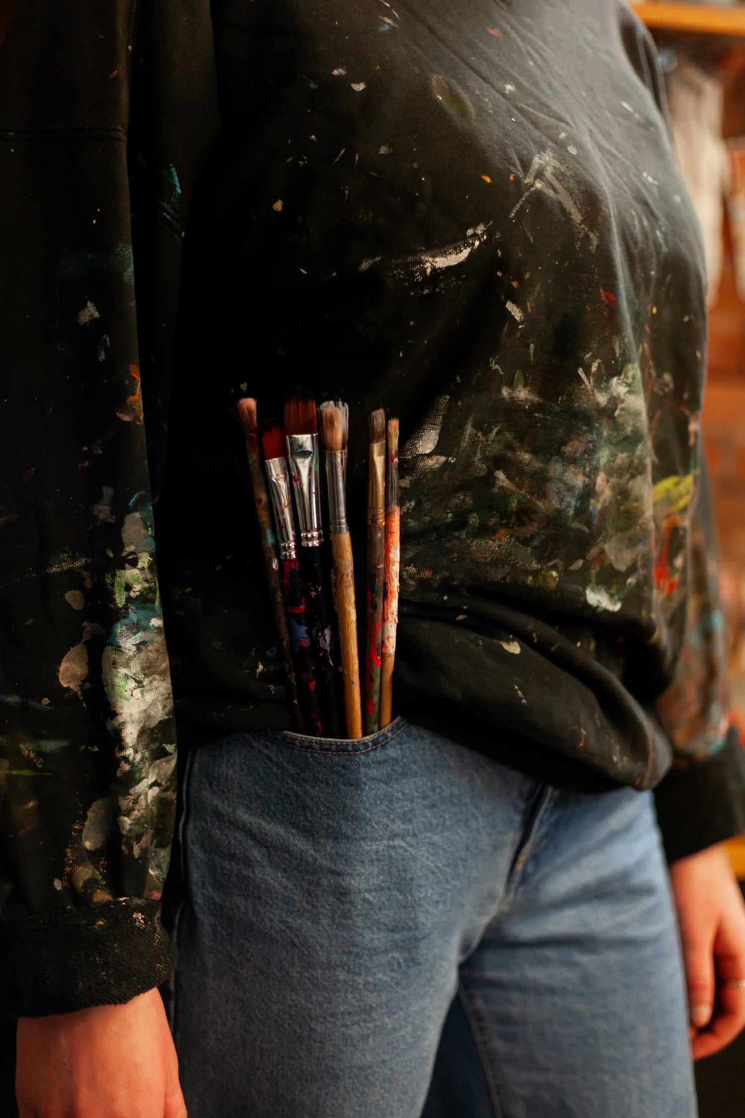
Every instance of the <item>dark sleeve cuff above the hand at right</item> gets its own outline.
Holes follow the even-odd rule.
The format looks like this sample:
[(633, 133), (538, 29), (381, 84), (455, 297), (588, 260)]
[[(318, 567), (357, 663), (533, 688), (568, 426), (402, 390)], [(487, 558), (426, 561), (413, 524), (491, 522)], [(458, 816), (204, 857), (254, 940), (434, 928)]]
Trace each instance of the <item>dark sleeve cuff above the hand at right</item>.
[(669, 862), (745, 831), (745, 750), (736, 729), (708, 760), (670, 769), (655, 799)]

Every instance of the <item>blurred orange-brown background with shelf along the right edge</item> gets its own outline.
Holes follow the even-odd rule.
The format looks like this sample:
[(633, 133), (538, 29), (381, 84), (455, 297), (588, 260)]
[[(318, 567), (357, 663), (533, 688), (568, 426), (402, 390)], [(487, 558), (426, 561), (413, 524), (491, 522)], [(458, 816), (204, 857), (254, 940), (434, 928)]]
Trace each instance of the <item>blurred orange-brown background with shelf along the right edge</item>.
[[(745, 746), (745, 3), (632, 4), (665, 72), (678, 162), (704, 233), (704, 438), (719, 542), (730, 718)], [(745, 835), (729, 854), (745, 891)], [(700, 1118), (745, 1118), (745, 1035), (697, 1064)]]

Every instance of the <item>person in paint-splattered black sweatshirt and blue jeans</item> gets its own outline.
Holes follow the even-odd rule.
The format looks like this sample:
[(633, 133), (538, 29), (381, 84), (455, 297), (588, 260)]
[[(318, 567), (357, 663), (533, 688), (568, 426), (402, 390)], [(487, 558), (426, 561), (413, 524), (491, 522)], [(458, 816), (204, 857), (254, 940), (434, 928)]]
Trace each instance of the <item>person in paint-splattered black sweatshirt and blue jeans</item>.
[[(21, 0), (0, 106), (22, 1118), (693, 1118), (689, 1030), (745, 1023), (745, 780), (648, 34)], [(235, 404), (296, 385), (350, 405), (357, 572), (366, 416), (401, 420), (362, 741), (295, 729), (264, 584)]]

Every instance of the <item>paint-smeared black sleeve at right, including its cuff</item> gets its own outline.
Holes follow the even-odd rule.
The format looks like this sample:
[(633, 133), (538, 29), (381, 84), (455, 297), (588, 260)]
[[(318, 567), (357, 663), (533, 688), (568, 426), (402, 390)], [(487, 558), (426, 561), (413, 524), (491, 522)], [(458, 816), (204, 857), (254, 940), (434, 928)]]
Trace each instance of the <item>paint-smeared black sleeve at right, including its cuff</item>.
[(670, 861), (745, 831), (745, 751), (727, 719), (716, 539), (705, 473), (690, 541), (686, 635), (672, 683), (655, 711), (674, 756), (655, 793)]

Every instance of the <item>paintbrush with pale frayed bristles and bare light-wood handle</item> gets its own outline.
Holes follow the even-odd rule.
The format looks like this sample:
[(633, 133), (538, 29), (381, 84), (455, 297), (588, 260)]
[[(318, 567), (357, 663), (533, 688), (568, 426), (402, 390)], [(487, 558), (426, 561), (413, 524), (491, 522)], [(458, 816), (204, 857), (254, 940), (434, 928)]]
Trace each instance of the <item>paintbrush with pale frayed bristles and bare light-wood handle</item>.
[(342, 651), (346, 735), (348, 738), (361, 738), (362, 699), (357, 657), (357, 607), (354, 598), (352, 538), (346, 522), (344, 417), (341, 406), (327, 404), (322, 407), (321, 425), (326, 447), (326, 481), (335, 575), (334, 600), (338, 616), (338, 639)]

